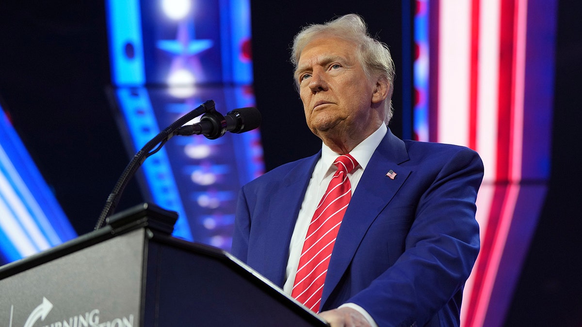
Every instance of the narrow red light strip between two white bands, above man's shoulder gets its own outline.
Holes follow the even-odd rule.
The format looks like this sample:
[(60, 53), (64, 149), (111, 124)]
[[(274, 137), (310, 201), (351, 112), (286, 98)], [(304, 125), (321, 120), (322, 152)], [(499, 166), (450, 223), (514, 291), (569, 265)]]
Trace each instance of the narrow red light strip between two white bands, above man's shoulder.
[(471, 5), (471, 58), (469, 86), (469, 147), (477, 150), (477, 89), (479, 77), (479, 26), (480, 0)]

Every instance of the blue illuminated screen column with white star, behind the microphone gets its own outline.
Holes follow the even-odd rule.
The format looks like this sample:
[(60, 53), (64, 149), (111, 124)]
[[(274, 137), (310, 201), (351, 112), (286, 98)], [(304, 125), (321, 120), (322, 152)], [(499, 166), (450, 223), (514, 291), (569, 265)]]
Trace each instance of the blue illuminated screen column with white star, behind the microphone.
[[(208, 99), (254, 106), (248, 1), (108, 1), (112, 94), (130, 154)], [(147, 159), (148, 201), (177, 211), (174, 236), (229, 250), (237, 193), (262, 174), (258, 130), (175, 137)]]

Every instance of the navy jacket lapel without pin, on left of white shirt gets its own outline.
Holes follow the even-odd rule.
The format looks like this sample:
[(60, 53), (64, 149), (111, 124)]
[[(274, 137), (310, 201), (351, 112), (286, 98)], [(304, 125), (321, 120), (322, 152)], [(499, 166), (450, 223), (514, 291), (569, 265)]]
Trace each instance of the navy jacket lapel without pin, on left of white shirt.
[(272, 189), (268, 210), (269, 223), (265, 236), (265, 277), (276, 285), (283, 286), (285, 269), (289, 258), (289, 243), (299, 215), (307, 185), (311, 179), (318, 154), (300, 161), (285, 176), (280, 187)]

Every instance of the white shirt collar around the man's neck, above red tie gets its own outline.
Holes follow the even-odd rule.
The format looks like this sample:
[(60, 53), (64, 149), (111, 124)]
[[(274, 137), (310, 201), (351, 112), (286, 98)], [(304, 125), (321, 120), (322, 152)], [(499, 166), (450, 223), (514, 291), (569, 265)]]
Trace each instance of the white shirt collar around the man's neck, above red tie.
[[(380, 127), (370, 136), (366, 137), (360, 144), (350, 151), (350, 155), (356, 159), (360, 164), (362, 169), (365, 169), (372, 158), (372, 154), (382, 141), (382, 138), (386, 135), (388, 127), (385, 124), (380, 124)], [(321, 146), (321, 176), (327, 175), (330, 171), (335, 172), (335, 166), (333, 166), (333, 161), (338, 158), (340, 154), (333, 152), (327, 145), (322, 144)]]

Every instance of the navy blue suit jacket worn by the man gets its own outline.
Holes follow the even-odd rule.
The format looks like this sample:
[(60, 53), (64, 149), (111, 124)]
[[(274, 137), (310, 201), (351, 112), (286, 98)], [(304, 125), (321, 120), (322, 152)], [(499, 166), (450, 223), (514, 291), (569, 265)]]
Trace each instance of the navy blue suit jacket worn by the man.
[[(232, 253), (282, 287), (289, 242), (321, 152), (243, 186)], [(392, 169), (395, 179), (386, 177)], [(379, 326), (457, 326), (465, 280), (479, 251), (476, 152), (402, 141), (390, 130), (347, 207), (321, 311), (356, 303)]]

